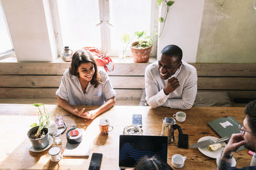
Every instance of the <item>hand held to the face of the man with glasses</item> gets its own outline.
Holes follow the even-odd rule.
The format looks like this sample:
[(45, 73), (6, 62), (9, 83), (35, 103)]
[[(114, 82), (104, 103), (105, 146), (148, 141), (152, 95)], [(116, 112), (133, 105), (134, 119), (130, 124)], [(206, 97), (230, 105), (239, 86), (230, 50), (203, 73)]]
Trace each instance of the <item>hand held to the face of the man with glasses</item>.
[(232, 155), (232, 153), (236, 152), (236, 150), (242, 145), (244, 145), (243, 134), (232, 134), (223, 153), (225, 153), (226, 155)]

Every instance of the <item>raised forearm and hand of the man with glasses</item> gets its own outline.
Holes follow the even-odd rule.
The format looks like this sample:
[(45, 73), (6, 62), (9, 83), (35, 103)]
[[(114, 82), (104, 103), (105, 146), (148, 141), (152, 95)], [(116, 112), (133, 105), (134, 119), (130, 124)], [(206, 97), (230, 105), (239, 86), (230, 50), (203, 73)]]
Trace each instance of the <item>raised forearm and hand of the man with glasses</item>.
[(244, 145), (243, 134), (232, 134), (227, 146), (225, 146), (221, 154), (220, 161), (218, 162), (219, 170), (225, 170), (228, 169), (228, 167), (231, 167), (233, 153), (242, 145)]

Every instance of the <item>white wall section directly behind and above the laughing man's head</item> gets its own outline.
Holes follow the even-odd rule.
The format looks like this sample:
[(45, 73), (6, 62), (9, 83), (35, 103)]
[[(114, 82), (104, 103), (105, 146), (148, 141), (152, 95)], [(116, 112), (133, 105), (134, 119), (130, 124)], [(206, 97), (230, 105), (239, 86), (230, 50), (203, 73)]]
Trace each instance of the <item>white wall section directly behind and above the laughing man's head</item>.
[[(204, 2), (204, 0), (179, 0), (170, 6), (163, 34), (158, 41), (157, 58), (164, 46), (173, 44), (182, 49), (182, 60), (196, 62)], [(160, 10), (162, 17), (165, 16), (166, 9), (163, 4)]]

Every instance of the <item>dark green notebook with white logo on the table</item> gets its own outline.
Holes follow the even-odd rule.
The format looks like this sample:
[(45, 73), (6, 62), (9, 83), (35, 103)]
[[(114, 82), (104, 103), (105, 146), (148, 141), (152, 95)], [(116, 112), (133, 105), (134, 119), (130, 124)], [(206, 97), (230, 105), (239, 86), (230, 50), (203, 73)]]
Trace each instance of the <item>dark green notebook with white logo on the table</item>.
[[(239, 133), (240, 123), (234, 117), (223, 117), (208, 122), (208, 125), (218, 134), (221, 138), (232, 134)], [(225, 141), (228, 143), (229, 140)], [(237, 151), (243, 150), (244, 146), (241, 146)]]

